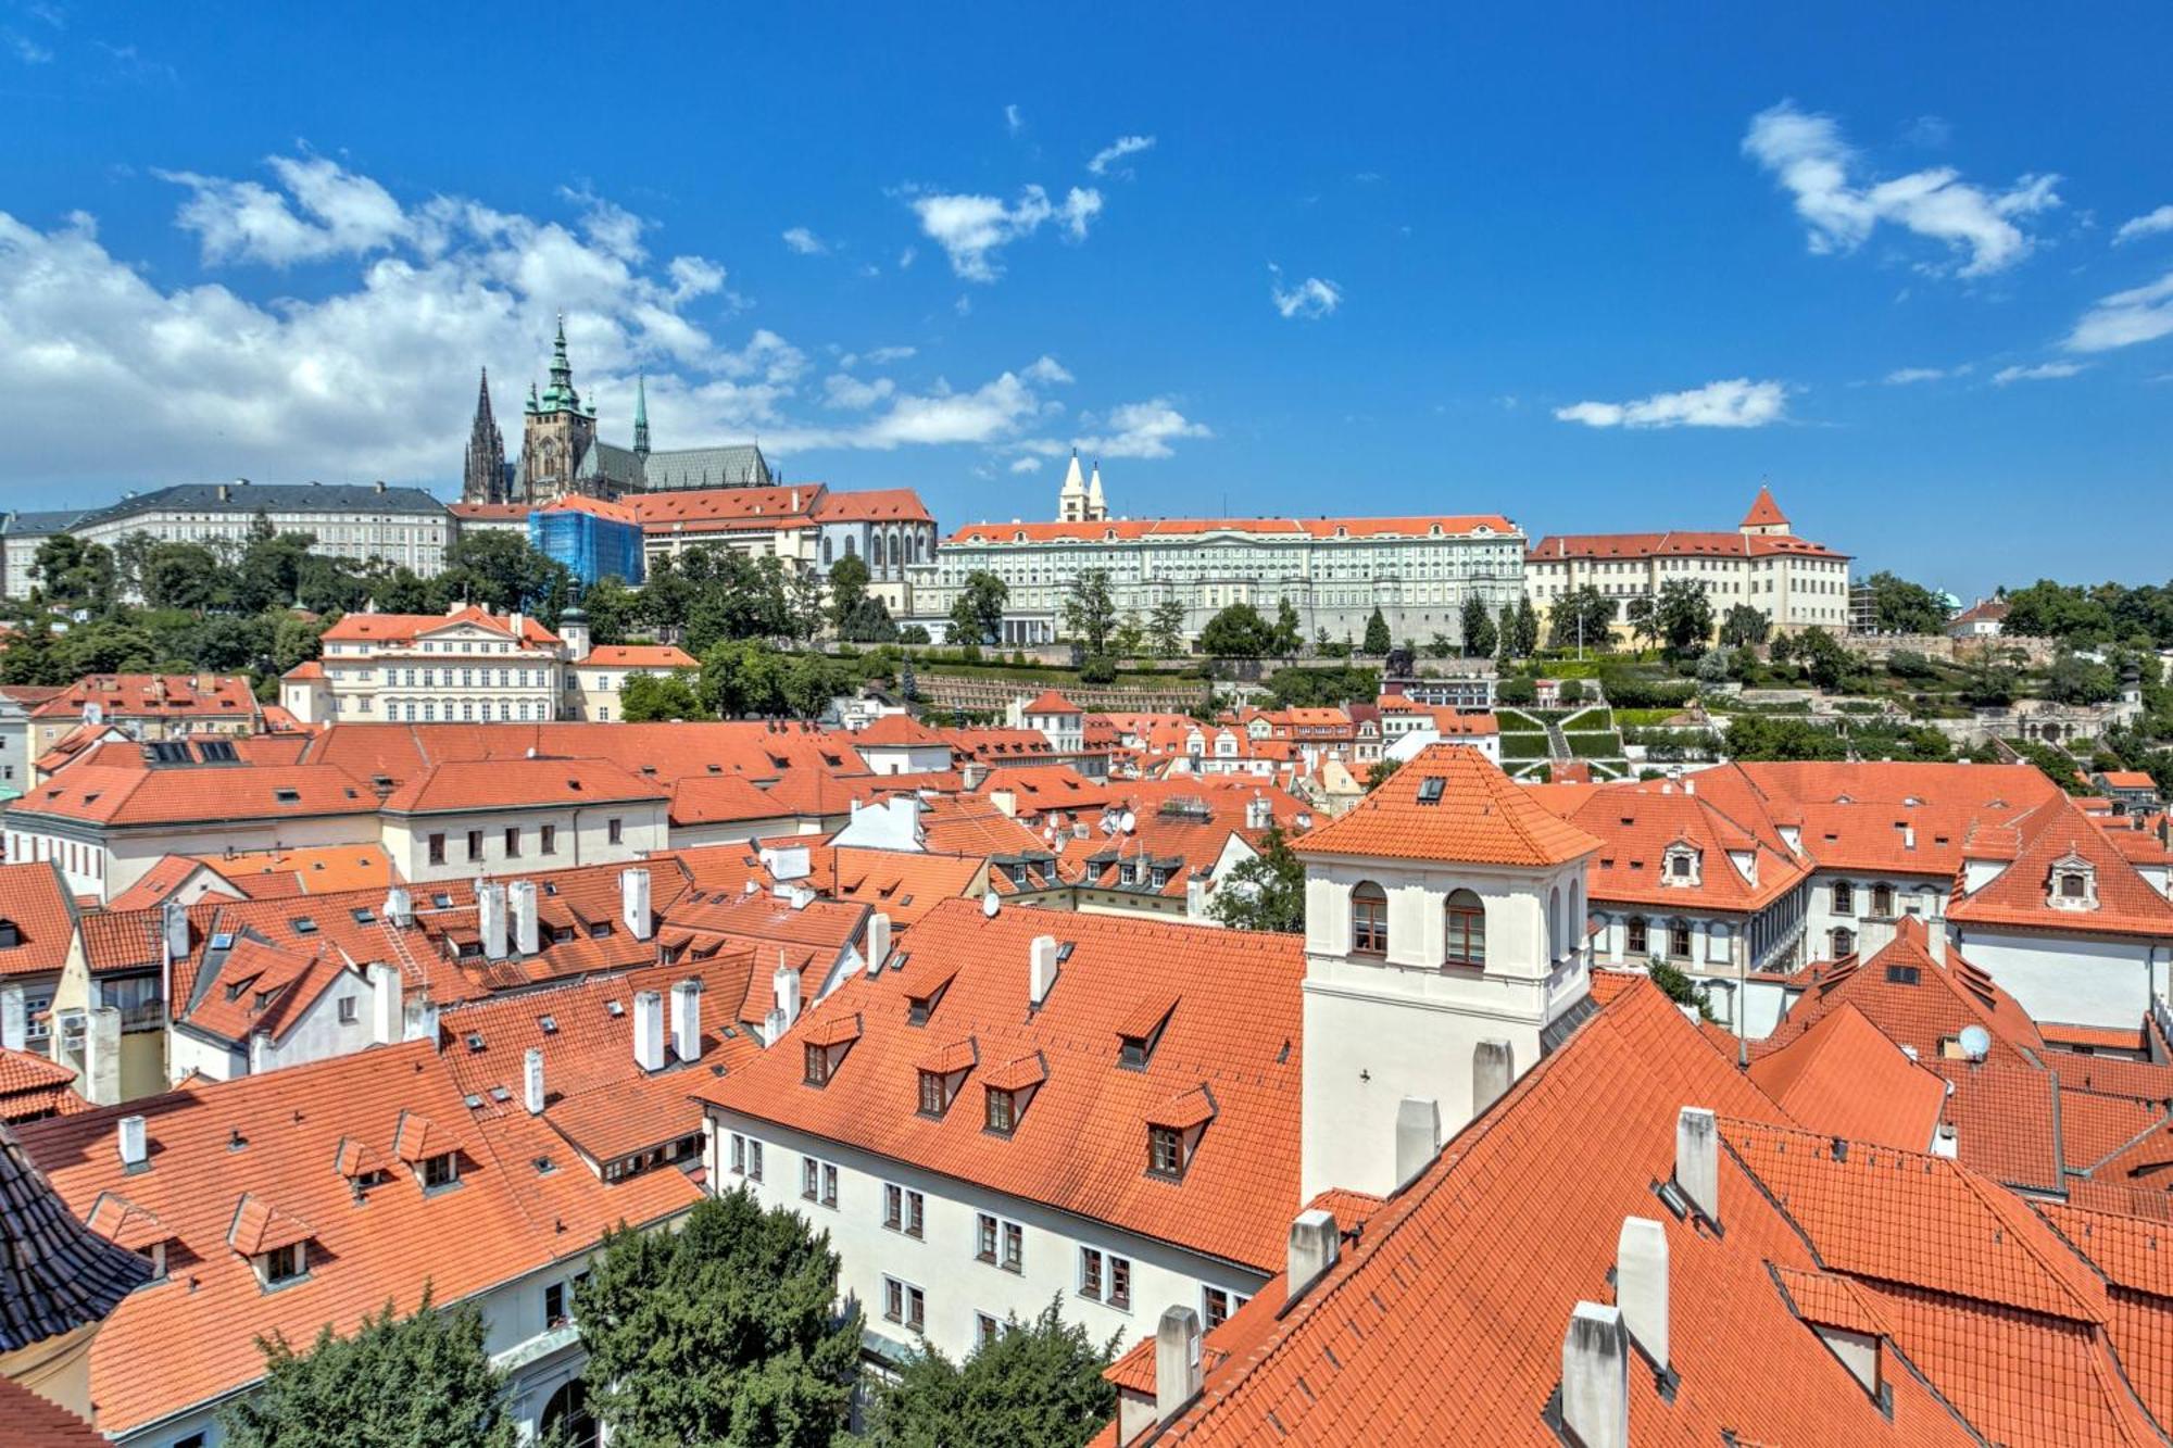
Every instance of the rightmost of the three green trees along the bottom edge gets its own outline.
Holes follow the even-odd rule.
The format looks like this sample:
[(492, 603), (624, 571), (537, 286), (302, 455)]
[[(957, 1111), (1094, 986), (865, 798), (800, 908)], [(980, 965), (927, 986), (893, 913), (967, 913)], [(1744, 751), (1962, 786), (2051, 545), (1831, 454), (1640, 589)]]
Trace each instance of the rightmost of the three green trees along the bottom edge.
[(1117, 1352), (1095, 1346), (1050, 1302), (1032, 1322), (1010, 1318), (963, 1363), (928, 1348), (876, 1389), (874, 1448), (1078, 1448), (1117, 1411), (1102, 1378)]

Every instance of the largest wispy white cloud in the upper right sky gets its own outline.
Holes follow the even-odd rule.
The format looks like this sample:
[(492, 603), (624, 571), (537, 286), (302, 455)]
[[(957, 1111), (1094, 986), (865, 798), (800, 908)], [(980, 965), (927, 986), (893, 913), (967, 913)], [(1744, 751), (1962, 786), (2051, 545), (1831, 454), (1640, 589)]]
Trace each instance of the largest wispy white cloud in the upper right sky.
[(1986, 191), (1945, 165), (1891, 180), (1862, 176), (1862, 159), (1841, 139), (1834, 117), (1810, 115), (1788, 100), (1751, 117), (1743, 154), (1795, 196), (1795, 211), (1810, 226), (1810, 250), (1819, 254), (1856, 250), (1888, 222), (1967, 257), (1958, 276), (1988, 276), (2036, 246), (2017, 220), (2060, 204), (2058, 176), (2023, 176), (2008, 191)]

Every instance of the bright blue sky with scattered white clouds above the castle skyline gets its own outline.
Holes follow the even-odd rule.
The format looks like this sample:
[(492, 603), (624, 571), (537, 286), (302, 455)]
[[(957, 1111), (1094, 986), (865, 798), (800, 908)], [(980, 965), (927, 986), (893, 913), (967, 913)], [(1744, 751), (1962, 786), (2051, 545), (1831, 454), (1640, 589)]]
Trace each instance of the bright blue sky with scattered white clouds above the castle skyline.
[[(626, 439), (2164, 578), (2173, 11), (0, 0), (0, 507)], [(508, 435), (508, 446), (517, 446)]]

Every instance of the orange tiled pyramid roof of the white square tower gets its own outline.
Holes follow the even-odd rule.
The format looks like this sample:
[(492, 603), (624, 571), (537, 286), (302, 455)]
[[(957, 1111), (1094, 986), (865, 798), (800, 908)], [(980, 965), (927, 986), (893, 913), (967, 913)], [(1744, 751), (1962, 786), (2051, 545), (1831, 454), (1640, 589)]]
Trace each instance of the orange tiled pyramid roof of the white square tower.
[(1599, 841), (1549, 813), (1478, 750), (1434, 744), (1349, 813), (1315, 826), (1291, 848), (1299, 854), (1565, 865), (1599, 850)]

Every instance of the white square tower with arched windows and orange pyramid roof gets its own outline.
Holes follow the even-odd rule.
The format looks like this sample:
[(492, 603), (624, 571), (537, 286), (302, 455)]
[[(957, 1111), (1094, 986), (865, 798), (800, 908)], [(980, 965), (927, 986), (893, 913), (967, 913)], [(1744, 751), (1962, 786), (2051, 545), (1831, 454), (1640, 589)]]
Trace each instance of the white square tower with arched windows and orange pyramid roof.
[(1430, 1159), (1397, 1141), (1399, 1118), (1439, 1115), (1439, 1139), (1454, 1137), (1591, 1009), (1584, 861), (1599, 841), (1478, 750), (1436, 744), (1293, 848), (1306, 861), (1299, 1200), (1384, 1196)]

